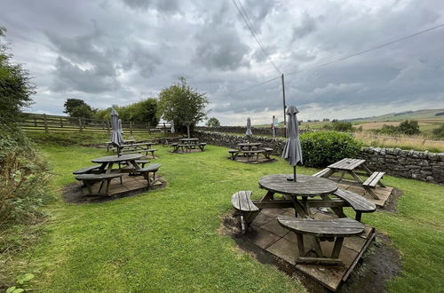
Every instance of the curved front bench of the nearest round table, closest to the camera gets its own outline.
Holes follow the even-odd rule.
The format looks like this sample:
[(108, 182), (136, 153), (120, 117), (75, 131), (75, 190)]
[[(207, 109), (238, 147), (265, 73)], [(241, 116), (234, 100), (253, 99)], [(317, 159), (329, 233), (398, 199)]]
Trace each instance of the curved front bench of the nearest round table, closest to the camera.
[[(299, 250), (299, 256), (296, 259), (297, 264), (344, 265), (339, 259), (344, 238), (361, 234), (364, 231), (364, 226), (352, 218), (312, 219), (279, 215), (278, 222), (282, 227), (293, 231), (297, 235), (297, 249)], [(316, 257), (306, 257), (304, 234), (315, 237), (313, 251)], [(335, 245), (331, 255), (326, 257), (322, 253), (319, 242), (330, 241), (332, 238), (336, 239)]]

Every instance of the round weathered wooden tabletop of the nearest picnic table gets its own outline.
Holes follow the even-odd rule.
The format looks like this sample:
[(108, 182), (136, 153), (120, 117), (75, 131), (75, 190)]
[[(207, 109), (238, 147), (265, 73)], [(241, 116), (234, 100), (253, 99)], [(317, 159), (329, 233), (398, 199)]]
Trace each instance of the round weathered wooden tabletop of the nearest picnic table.
[(259, 186), (277, 194), (315, 196), (332, 194), (337, 191), (337, 184), (327, 178), (297, 174), (297, 181), (287, 178), (293, 174), (273, 174), (259, 179)]

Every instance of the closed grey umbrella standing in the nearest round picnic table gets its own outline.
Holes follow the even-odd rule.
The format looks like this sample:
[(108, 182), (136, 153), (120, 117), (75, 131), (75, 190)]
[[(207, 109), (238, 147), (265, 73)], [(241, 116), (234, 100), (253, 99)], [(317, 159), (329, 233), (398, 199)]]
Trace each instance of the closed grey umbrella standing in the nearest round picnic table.
[(289, 139), (283, 147), (281, 157), (284, 158), (290, 165), (293, 166), (293, 178), (287, 178), (289, 181), (296, 181), (296, 165), (297, 162), (302, 162), (302, 149), (299, 141), (299, 123), (297, 122), (297, 107), (290, 106), (287, 108), (286, 114), (289, 115), (289, 122), (287, 123), (287, 133)]

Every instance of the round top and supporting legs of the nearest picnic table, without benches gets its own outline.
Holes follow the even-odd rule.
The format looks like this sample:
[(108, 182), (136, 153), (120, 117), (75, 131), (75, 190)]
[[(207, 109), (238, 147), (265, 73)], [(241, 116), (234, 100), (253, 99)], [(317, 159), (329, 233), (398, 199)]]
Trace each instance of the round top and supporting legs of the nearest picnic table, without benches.
[[(287, 178), (292, 177), (293, 174), (273, 174), (260, 178), (259, 187), (268, 191), (261, 202), (273, 202), (274, 194), (282, 194), (293, 202), (299, 217), (312, 218), (307, 198), (316, 195), (324, 198), (323, 196), (333, 194), (338, 188), (335, 182), (327, 178), (297, 174), (297, 181), (287, 180)], [(301, 199), (298, 199), (298, 196)]]

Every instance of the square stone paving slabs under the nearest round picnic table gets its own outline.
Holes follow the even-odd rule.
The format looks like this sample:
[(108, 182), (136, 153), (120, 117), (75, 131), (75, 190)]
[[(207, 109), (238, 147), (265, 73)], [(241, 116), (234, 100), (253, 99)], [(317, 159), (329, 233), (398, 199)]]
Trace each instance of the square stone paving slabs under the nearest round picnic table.
[[(333, 213), (324, 213), (312, 209), (313, 218), (337, 218)], [(293, 216), (293, 209), (264, 209), (258, 214), (251, 224), (246, 235), (251, 242), (261, 249), (273, 254), (275, 257), (295, 265), (296, 269), (302, 273), (313, 277), (323, 286), (331, 290), (336, 290), (342, 281), (345, 281), (352, 272), (354, 265), (361, 258), (362, 253), (367, 249), (369, 243), (375, 237), (375, 229), (366, 226), (364, 233), (359, 236), (345, 237), (344, 246), (341, 249), (339, 258), (345, 266), (332, 265), (296, 265), (298, 257), (297, 236), (295, 233), (283, 228), (277, 221), (278, 215)], [(365, 218), (365, 215), (363, 216)], [(312, 236), (304, 235), (305, 251), (312, 249)], [(331, 254), (334, 242), (321, 242), (321, 249), (326, 254)]]

